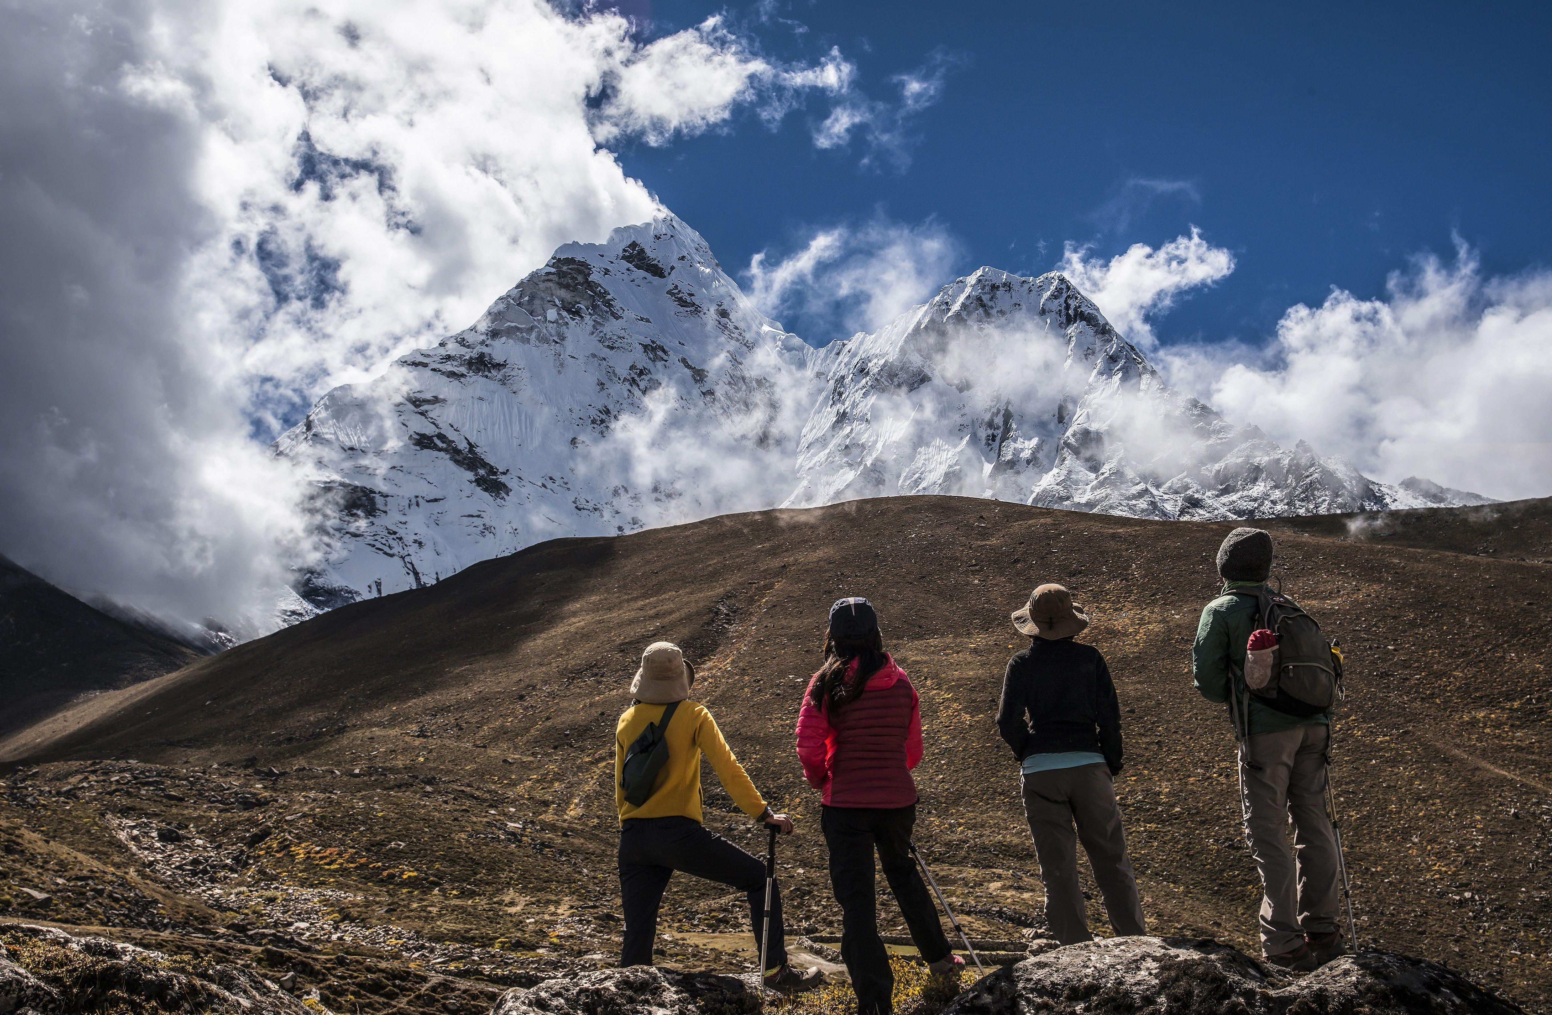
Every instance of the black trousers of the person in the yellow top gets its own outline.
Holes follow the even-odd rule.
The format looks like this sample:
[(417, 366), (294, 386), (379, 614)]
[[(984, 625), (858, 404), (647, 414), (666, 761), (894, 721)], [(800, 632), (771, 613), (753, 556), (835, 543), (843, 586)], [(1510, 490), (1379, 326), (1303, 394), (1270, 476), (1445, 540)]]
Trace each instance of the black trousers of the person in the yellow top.
[[(754, 953), (765, 923), (765, 861), (751, 857), (694, 818), (630, 818), (619, 827), (619, 894), (624, 902), (625, 941), (621, 965), (652, 965), (663, 889), (675, 871), (736, 888), (750, 900)], [(771, 948), (765, 965), (787, 964), (781, 922), (781, 888), (771, 892)]]

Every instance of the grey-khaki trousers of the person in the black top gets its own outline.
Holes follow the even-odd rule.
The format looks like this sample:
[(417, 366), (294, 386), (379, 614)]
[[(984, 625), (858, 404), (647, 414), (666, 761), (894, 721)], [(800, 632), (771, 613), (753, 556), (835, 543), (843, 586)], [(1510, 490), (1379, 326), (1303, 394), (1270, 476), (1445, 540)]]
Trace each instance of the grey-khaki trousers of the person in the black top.
[[(1102, 765), (1024, 773), (1024, 816), (1046, 885), (1046, 923), (1065, 945), (1091, 941), (1077, 883), (1077, 843), (1094, 868), (1105, 913), (1116, 934), (1145, 934), (1138, 878), (1127, 855), (1116, 787)], [(1076, 833), (1074, 833), (1076, 826)]]

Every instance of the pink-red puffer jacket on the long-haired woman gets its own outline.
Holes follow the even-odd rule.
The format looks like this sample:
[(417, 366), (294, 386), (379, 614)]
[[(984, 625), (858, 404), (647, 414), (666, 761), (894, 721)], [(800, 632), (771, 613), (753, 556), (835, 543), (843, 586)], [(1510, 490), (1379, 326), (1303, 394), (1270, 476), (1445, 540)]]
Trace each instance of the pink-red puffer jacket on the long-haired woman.
[(911, 770), (922, 760), (922, 705), (905, 670), (891, 658), (868, 678), (861, 697), (835, 711), (829, 701), (824, 708), (813, 703), (815, 680), (798, 714), (798, 760), (809, 785), (830, 807), (914, 804)]

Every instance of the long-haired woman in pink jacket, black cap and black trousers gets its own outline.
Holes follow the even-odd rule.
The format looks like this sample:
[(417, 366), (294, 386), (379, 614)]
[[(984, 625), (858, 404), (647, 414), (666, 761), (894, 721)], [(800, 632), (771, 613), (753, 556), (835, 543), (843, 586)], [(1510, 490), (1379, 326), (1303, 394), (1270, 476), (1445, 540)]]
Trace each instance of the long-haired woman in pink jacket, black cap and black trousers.
[(830, 850), (830, 888), (841, 906), (841, 958), (858, 1015), (891, 1015), (894, 973), (878, 936), (874, 849), (911, 941), (934, 973), (964, 967), (911, 858), (922, 709), (905, 670), (883, 650), (866, 599), (830, 607), (824, 666), (809, 681), (798, 715), (798, 759), (824, 795), (819, 827)]

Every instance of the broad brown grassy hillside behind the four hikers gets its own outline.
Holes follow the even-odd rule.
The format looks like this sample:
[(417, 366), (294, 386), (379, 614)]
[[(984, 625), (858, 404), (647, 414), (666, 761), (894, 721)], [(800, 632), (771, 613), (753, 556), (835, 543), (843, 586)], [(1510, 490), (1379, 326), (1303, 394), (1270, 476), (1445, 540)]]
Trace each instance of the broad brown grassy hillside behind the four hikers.
[[(1406, 512), (1392, 518), (1403, 534), (1387, 537), (1374, 520), (1270, 528), (1285, 590), (1347, 647), (1335, 781), (1366, 944), (1448, 961), (1540, 1007), (1552, 1001), (1552, 568), (1533, 560), (1552, 556), (1552, 504), (1512, 508)], [(1152, 930), (1254, 950), (1259, 882), (1238, 829), (1232, 740), (1221, 706), (1189, 677), (1229, 528), (911, 497), (556, 540), (14, 736), (0, 756), (40, 767), (12, 778), (0, 815), (19, 843), (48, 837), (113, 869), (138, 841), (126, 821), (182, 823), (183, 841), (197, 837), (210, 854), (188, 860), (194, 874), (171, 847), (133, 849), (152, 871), (182, 871), (191, 902), (126, 917), (135, 933), (236, 925), (208, 941), (245, 948), (265, 927), (301, 922), (310, 930), (273, 947), (359, 947), (380, 970), (422, 961), (411, 954), (419, 937), (407, 937), (421, 934), (452, 942), (438, 945), (438, 968), (470, 970), (459, 982), (475, 1010), (481, 984), (611, 958), (611, 734), (643, 646), (667, 638), (700, 667), (698, 697), (756, 784), (799, 816), (801, 833), (782, 844), (792, 925), (823, 933), (838, 928), (838, 911), (792, 728), (830, 601), (864, 594), (923, 698), (917, 840), (978, 933), (1017, 937), (1040, 909), (1040, 882), (992, 720), (1021, 644), (1007, 613), (1032, 585), (1062, 580), (1091, 610), (1085, 638), (1117, 680), (1117, 787)], [(1429, 539), (1448, 549), (1428, 549)], [(1495, 553), (1478, 556), (1484, 546)], [(1496, 553), (1504, 546), (1526, 549)], [(709, 773), (708, 824), (756, 846)], [(264, 841), (239, 855), (253, 832)], [(236, 872), (196, 877), (217, 861)], [(62, 868), (39, 858), (12, 869)], [(225, 894), (210, 895), (211, 885)], [(321, 911), (298, 919), (290, 900), (315, 889), (348, 895), (320, 895)], [(53, 913), (116, 919), (93, 905), (59, 899)], [(743, 942), (731, 936), (742, 919), (725, 892), (677, 880), (661, 944), (674, 961), (736, 965), (726, 950)], [(404, 936), (368, 947), (371, 927)], [(341, 972), (355, 967), (298, 961), (312, 970), (304, 982), (354, 990), (363, 1010), (417, 1010), (407, 998), (431, 996), (388, 972), (366, 978), (385, 992)]]

